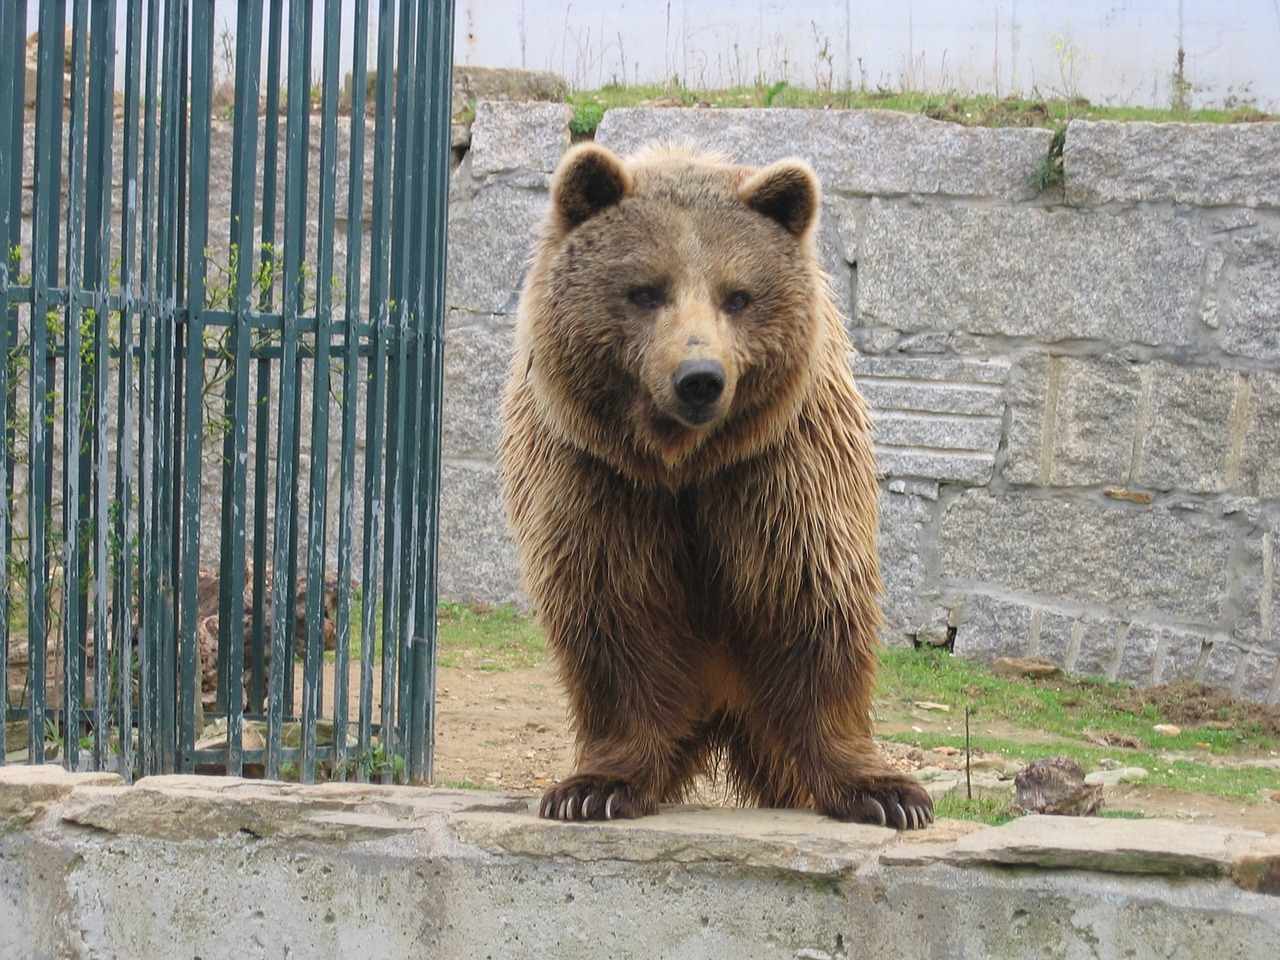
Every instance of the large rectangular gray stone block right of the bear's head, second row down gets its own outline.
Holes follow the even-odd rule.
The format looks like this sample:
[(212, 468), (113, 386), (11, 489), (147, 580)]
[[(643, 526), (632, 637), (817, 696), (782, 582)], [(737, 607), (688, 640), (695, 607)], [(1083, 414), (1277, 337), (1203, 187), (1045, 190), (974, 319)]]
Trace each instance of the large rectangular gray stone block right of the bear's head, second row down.
[(1203, 260), (1193, 224), (1161, 212), (873, 201), (854, 323), (1184, 344)]

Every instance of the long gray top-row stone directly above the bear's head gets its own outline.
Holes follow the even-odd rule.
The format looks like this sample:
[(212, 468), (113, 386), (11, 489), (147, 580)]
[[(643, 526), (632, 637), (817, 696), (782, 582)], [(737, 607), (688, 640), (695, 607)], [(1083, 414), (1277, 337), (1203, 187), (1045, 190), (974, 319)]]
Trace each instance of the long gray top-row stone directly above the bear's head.
[(947, 195), (1029, 200), (1030, 173), (1052, 140), (1042, 129), (969, 128), (882, 110), (662, 110), (604, 114), (595, 142), (630, 154), (654, 141), (691, 142), (763, 166), (808, 160), (823, 189), (849, 195)]

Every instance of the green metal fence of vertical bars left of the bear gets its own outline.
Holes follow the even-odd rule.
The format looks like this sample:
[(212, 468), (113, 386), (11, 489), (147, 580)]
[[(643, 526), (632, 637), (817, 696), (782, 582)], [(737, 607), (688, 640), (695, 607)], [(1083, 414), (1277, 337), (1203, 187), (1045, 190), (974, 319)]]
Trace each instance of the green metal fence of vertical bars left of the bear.
[(223, 6), (0, 4), (0, 762), (426, 780), (453, 4)]

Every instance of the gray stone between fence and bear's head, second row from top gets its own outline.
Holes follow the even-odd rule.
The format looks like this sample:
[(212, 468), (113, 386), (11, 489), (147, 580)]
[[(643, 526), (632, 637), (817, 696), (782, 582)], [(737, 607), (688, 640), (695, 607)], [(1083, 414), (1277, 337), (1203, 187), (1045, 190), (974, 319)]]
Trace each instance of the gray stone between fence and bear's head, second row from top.
[(520, 294), (547, 195), (503, 183), (449, 205), (448, 305), (511, 314)]

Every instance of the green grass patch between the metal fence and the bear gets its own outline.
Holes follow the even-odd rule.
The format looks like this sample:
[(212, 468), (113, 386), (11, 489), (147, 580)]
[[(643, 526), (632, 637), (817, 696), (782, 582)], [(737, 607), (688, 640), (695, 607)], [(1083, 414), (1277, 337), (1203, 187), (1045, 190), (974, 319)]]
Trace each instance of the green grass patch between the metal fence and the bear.
[(502, 672), (547, 662), (541, 632), (515, 607), (442, 603), (438, 623), (436, 662), (442, 667)]

